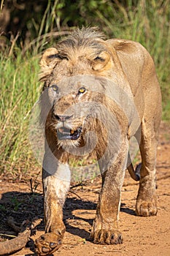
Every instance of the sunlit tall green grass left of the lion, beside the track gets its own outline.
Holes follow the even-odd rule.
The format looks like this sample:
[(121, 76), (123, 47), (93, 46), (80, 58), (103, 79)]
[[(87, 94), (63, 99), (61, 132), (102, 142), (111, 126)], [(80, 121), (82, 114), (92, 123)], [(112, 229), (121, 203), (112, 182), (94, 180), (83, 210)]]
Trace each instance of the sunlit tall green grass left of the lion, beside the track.
[(0, 61), (1, 172), (20, 173), (35, 162), (28, 143), (28, 117), (39, 95), (38, 59), (18, 53), (16, 59), (1, 54)]

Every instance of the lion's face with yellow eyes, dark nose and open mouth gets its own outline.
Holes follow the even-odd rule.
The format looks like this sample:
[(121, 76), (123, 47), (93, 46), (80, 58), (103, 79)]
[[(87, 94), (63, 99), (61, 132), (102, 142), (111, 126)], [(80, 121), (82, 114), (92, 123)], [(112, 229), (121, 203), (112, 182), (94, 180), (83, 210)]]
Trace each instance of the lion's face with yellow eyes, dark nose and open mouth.
[[(77, 75), (50, 82), (43, 94), (50, 102), (46, 126), (57, 136), (59, 146), (82, 145), (85, 132), (93, 130), (104, 105), (104, 78)], [(45, 102), (45, 100), (44, 100)]]

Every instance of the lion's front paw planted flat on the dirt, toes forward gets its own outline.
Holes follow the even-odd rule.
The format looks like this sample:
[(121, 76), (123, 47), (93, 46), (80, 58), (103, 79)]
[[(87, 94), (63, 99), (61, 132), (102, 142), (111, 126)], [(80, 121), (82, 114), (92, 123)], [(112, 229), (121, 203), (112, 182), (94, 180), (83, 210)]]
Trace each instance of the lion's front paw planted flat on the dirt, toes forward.
[(123, 236), (118, 230), (95, 230), (90, 235), (95, 244), (122, 244)]

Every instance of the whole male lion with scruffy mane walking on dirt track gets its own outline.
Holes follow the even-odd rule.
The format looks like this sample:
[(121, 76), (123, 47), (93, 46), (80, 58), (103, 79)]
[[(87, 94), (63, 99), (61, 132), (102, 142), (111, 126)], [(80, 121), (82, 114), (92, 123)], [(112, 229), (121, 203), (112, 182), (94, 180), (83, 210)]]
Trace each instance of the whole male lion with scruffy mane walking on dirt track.
[(77, 29), (45, 51), (40, 62), (45, 125), (43, 188), (45, 235), (39, 255), (55, 252), (65, 225), (63, 204), (69, 190), (69, 157), (96, 152), (102, 176), (91, 238), (121, 244), (120, 192), (125, 169), (137, 180), (128, 141), (135, 136), (142, 156), (136, 214), (157, 214), (155, 162), (161, 121), (161, 90), (150, 54), (138, 42), (104, 40), (95, 29)]

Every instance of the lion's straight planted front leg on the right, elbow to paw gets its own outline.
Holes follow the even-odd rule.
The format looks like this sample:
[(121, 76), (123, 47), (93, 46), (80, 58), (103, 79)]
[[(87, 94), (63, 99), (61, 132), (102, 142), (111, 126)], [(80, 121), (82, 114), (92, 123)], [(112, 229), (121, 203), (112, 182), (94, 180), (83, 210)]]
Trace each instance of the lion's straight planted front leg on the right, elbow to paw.
[(114, 164), (102, 175), (103, 184), (90, 235), (96, 244), (123, 243), (123, 236), (118, 230), (118, 216), (127, 155), (127, 150), (120, 153)]

